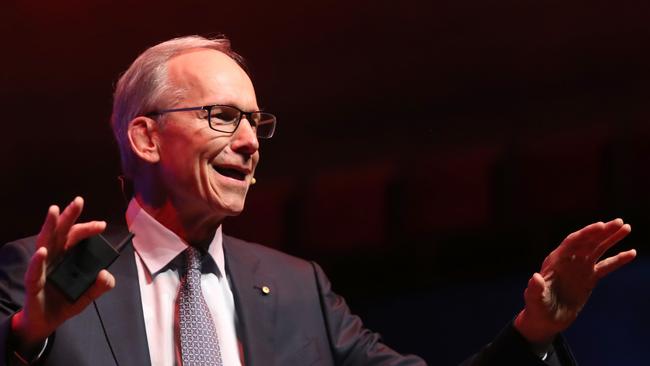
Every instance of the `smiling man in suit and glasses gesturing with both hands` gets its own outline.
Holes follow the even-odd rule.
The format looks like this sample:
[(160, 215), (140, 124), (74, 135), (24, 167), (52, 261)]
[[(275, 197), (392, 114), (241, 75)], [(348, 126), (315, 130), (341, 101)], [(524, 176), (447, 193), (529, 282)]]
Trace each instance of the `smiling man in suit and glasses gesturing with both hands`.
[[(145, 51), (117, 84), (112, 125), (133, 182), (126, 212), (132, 245), (73, 303), (46, 273), (79, 240), (106, 227), (75, 223), (81, 198), (63, 211), (50, 207), (38, 236), (5, 245), (3, 360), (424, 364), (364, 329), (316, 264), (222, 234), (223, 220), (244, 207), (258, 138), (271, 137), (275, 127), (274, 116), (259, 112), (227, 40), (185, 37)], [(530, 279), (524, 310), (466, 364), (573, 364), (558, 334), (597, 281), (634, 258), (630, 250), (600, 260), (629, 232), (617, 219), (569, 235)]]

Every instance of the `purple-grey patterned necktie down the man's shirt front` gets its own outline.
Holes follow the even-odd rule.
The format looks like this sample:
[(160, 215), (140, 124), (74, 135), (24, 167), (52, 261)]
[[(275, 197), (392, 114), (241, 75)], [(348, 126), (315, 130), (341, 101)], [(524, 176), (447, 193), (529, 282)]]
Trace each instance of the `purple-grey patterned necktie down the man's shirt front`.
[(190, 246), (185, 260), (176, 300), (183, 366), (222, 366), (217, 329), (201, 292), (201, 254)]

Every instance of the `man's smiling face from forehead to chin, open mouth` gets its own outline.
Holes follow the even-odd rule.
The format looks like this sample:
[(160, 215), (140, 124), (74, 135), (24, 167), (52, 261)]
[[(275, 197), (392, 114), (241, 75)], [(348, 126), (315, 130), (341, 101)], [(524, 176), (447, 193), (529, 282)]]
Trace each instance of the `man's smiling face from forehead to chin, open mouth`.
[[(169, 80), (184, 90), (173, 106), (230, 105), (257, 111), (253, 84), (230, 57), (196, 49), (168, 62)], [(212, 130), (205, 111), (172, 112), (158, 133), (160, 182), (181, 215), (223, 218), (244, 208), (259, 160), (259, 144), (248, 120), (233, 134)], [(207, 217), (206, 217), (207, 218)]]

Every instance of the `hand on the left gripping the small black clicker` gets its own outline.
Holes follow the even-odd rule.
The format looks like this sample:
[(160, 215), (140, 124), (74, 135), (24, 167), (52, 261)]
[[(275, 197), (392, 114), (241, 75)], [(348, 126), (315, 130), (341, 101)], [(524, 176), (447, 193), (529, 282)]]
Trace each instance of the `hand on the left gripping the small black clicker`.
[(50, 206), (36, 240), (36, 252), (25, 273), (25, 305), (14, 314), (12, 333), (21, 349), (43, 344), (57, 327), (79, 314), (96, 298), (115, 287), (115, 278), (107, 270), (97, 275), (95, 283), (76, 302), (70, 303), (57, 289), (46, 285), (48, 267), (79, 241), (104, 231), (106, 222), (75, 224), (83, 199), (76, 197), (63, 212)]

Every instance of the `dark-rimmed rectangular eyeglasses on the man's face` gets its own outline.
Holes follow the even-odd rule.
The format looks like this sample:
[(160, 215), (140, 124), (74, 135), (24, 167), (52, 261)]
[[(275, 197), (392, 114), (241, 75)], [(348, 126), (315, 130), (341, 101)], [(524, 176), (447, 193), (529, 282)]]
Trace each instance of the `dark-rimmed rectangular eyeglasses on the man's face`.
[(187, 112), (187, 111), (206, 111), (207, 115), (203, 116), (208, 120), (210, 128), (225, 133), (235, 133), (237, 127), (243, 116), (253, 127), (257, 137), (262, 139), (270, 139), (275, 132), (276, 118), (271, 113), (262, 111), (244, 112), (241, 109), (229, 105), (206, 105), (202, 107), (189, 107), (189, 108), (176, 108), (176, 109), (163, 109), (147, 113), (147, 117), (160, 116), (165, 113), (172, 112)]

